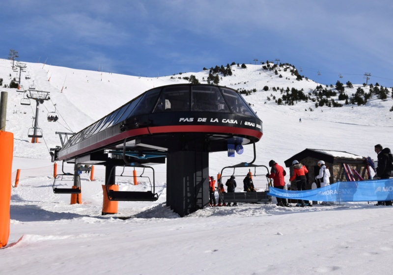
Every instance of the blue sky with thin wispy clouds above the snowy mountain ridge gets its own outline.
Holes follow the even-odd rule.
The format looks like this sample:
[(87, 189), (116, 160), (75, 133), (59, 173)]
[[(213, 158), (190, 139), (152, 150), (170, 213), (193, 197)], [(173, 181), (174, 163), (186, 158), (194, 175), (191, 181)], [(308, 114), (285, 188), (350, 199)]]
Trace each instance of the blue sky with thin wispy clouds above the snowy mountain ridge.
[(365, 83), (370, 73), (368, 83), (393, 86), (389, 0), (5, 0), (1, 6), (0, 58), (15, 49), (21, 61), (143, 77), (280, 59), (323, 84)]

